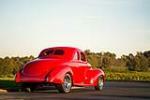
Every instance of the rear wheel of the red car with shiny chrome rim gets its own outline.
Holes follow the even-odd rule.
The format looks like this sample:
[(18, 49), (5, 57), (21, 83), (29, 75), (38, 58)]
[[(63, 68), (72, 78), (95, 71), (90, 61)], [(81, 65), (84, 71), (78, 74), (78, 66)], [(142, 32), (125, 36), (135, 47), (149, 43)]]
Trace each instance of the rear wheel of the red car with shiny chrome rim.
[(69, 93), (72, 87), (72, 78), (70, 74), (65, 74), (64, 82), (62, 84), (56, 85), (58, 91), (60, 93)]

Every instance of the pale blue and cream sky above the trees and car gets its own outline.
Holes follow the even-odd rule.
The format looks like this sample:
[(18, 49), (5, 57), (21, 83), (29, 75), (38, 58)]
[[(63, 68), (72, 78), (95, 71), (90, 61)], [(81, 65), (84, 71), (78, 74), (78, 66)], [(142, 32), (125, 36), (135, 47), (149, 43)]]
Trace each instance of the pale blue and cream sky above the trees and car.
[(0, 0), (0, 57), (72, 46), (117, 56), (150, 50), (150, 0)]

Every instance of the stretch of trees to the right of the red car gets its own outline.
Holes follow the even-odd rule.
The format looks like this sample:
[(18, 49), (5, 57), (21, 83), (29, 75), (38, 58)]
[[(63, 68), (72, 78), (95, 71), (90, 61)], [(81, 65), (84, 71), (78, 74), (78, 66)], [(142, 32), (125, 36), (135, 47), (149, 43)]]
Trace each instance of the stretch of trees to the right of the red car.
[(137, 52), (136, 55), (122, 55), (116, 58), (116, 54), (110, 52), (91, 52), (85, 50), (88, 61), (93, 67), (104, 70), (124, 70), (124, 71), (149, 71), (150, 70), (150, 51)]

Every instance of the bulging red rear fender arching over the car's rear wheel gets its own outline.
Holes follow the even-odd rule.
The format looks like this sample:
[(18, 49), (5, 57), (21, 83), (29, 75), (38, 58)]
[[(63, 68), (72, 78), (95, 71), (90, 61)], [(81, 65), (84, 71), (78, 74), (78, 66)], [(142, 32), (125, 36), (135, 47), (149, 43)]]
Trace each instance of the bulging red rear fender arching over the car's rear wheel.
[(49, 83), (61, 84), (63, 83), (64, 75), (70, 73), (73, 75), (73, 72), (69, 66), (60, 66), (54, 69), (46, 78), (46, 81)]

